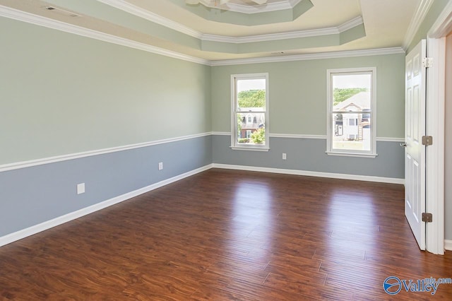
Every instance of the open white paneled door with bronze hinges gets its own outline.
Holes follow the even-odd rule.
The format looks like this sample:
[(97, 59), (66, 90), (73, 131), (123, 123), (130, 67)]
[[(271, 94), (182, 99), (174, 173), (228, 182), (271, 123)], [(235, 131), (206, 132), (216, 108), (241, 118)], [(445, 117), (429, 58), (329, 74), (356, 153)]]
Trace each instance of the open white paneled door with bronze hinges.
[(425, 249), (425, 83), (426, 42), (405, 59), (405, 216), (420, 249)]

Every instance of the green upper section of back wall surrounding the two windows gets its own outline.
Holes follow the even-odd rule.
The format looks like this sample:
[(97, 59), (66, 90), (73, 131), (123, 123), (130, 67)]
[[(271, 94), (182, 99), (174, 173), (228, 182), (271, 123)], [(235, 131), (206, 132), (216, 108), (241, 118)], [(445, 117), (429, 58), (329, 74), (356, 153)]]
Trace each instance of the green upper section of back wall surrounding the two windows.
[(327, 69), (374, 66), (377, 74), (376, 135), (404, 137), (404, 54), (215, 66), (211, 96), (213, 131), (231, 130), (231, 74), (268, 72), (270, 133), (326, 135)]

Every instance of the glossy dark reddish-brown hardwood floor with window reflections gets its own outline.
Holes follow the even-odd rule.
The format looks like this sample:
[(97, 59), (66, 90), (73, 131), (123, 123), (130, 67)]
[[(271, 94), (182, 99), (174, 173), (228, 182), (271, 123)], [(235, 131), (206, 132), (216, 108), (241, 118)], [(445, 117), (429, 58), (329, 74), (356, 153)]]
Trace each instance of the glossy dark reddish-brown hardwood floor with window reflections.
[[(0, 247), (4, 300), (452, 300), (403, 186), (212, 169)], [(400, 285), (403, 286), (403, 285)], [(391, 289), (395, 289), (394, 286)]]

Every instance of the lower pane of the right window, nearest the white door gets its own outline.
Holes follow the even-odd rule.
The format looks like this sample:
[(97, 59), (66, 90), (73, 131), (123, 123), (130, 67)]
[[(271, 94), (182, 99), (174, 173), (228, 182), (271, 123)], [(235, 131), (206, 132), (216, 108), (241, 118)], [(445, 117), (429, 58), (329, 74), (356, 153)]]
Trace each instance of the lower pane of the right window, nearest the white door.
[(333, 149), (370, 151), (370, 114), (332, 114)]

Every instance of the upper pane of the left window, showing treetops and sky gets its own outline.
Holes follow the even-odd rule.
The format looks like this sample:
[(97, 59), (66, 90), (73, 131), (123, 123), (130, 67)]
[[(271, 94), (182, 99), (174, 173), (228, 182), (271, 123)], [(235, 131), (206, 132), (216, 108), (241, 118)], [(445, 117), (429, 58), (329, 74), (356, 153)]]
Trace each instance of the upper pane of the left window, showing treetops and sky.
[(247, 111), (249, 108), (258, 108), (258, 107), (265, 109), (266, 107), (265, 78), (237, 80), (237, 102), (239, 111)]

